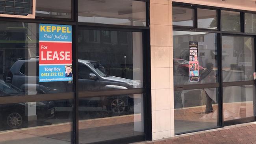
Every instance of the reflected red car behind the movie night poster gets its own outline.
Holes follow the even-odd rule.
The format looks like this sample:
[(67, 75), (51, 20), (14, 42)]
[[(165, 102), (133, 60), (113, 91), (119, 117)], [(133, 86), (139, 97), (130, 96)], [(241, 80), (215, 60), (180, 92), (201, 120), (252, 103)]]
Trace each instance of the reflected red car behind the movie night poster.
[[(185, 59), (173, 59), (174, 74), (189, 76), (189, 61)], [(204, 70), (204, 67), (199, 65), (199, 73)]]

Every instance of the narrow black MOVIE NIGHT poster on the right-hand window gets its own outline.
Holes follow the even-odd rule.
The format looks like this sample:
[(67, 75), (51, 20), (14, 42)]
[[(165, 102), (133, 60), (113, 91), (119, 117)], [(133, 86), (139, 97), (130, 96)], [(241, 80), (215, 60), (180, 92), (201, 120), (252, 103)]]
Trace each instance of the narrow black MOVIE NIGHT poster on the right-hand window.
[(198, 41), (189, 41), (189, 81), (199, 81)]

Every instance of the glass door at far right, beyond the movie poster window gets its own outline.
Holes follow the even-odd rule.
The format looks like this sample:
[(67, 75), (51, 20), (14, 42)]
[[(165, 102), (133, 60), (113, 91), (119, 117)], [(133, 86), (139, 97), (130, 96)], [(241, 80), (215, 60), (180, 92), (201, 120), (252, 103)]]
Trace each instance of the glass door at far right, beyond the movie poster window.
[(254, 37), (222, 36), (224, 125), (255, 116)]

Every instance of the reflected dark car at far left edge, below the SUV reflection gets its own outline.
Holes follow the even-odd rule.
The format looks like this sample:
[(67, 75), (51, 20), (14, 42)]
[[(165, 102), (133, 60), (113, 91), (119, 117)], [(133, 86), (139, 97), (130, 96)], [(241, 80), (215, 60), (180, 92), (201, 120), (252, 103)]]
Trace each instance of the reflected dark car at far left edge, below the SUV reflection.
[[(19, 96), (24, 92), (11, 85), (0, 81), (0, 96)], [(36, 107), (37, 118), (48, 118), (54, 116), (54, 103), (51, 101), (32, 102), (32, 103), (13, 103), (0, 105), (0, 123), (7, 126), (8, 129), (22, 127), (27, 121), (26, 108)]]

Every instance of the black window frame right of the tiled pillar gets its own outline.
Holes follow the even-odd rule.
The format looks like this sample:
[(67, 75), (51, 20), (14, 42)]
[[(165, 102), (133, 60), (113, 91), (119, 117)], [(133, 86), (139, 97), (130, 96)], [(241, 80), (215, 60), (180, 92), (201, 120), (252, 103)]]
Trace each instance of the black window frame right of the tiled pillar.
[[(218, 66), (218, 82), (217, 83), (210, 83), (210, 84), (197, 84), (193, 85), (182, 85), (182, 86), (175, 86), (174, 90), (189, 90), (189, 89), (203, 89), (203, 88), (219, 88), (219, 94), (217, 97), (218, 103), (219, 103), (219, 115), (218, 115), (218, 126), (214, 128), (224, 127), (224, 126), (230, 126), (234, 124), (241, 124), (245, 122), (253, 122), (256, 120), (256, 116), (247, 117), (247, 118), (241, 118), (241, 119), (234, 119), (229, 121), (224, 121), (223, 116), (223, 87), (227, 86), (240, 86), (240, 85), (256, 85), (256, 80), (250, 80), (250, 81), (235, 81), (235, 82), (223, 82), (222, 79), (222, 36), (230, 35), (230, 36), (242, 36), (242, 37), (253, 37), (254, 42), (256, 42), (256, 33), (245, 33), (245, 13), (250, 14), (256, 14), (255, 11), (246, 11), (246, 10), (239, 10), (239, 9), (230, 9), (230, 8), (224, 8), (224, 7), (213, 7), (213, 6), (204, 6), (204, 5), (198, 5), (198, 4), (188, 4), (188, 3), (182, 3), (182, 2), (173, 2), (173, 6), (179, 6), (179, 7), (190, 7), (196, 9), (196, 15), (197, 15), (197, 8), (200, 9), (210, 9), (210, 10), (217, 10), (217, 29), (211, 30), (211, 29), (204, 29), (204, 28), (197, 28), (197, 17), (195, 18), (195, 26), (193, 27), (187, 27), (187, 26), (175, 26), (173, 25), (173, 31), (197, 31), (197, 32), (209, 32), (209, 33), (217, 33), (217, 66)], [(236, 11), (240, 12), (240, 24), (241, 24), (241, 31), (240, 32), (234, 32), (234, 31), (222, 31), (221, 30), (221, 10), (224, 11)], [(254, 55), (256, 55), (256, 44), (254, 44)], [(256, 66), (256, 63), (255, 63)], [(255, 97), (255, 96), (254, 96)], [(212, 128), (208, 128), (212, 129)], [(196, 131), (202, 131), (206, 129), (198, 129)], [(188, 132), (195, 132), (195, 131), (187, 131)], [(178, 133), (177, 135), (180, 135), (183, 133)]]

